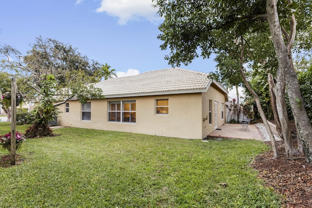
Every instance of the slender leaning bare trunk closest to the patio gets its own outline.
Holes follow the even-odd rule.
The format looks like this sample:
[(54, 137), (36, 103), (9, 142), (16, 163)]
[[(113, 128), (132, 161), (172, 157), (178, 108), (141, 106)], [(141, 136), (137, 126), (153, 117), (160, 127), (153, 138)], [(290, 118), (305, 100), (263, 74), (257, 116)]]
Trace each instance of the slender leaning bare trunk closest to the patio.
[(248, 83), (247, 81), (247, 78), (244, 74), (244, 68), (243, 68), (243, 63), (244, 63), (244, 59), (243, 59), (243, 56), (244, 56), (244, 39), (243, 37), (240, 38), (241, 40), (241, 52), (240, 52), (240, 68), (239, 68), (239, 72), (240, 72), (240, 75), (242, 76), (243, 80), (244, 80), (244, 83), (247, 87), (247, 89), (249, 90), (249, 92), (251, 94), (254, 95), (254, 101), (257, 105), (257, 108), (258, 108), (258, 112), (261, 116), (261, 119), (263, 121), (263, 124), (269, 134), (269, 137), (270, 137), (270, 140), (271, 140), (271, 145), (272, 145), (272, 150), (273, 150), (273, 158), (276, 159), (276, 158), (279, 158), (280, 155), (279, 155), (279, 152), (278, 152), (278, 149), (277, 149), (277, 146), (276, 146), (276, 141), (275, 141), (275, 138), (274, 138), (274, 135), (273, 135), (273, 132), (271, 130), (271, 127), (268, 123), (268, 120), (265, 116), (265, 113), (263, 112), (263, 109), (262, 109), (262, 106), (261, 106), (261, 103), (260, 103), (260, 99), (259, 99), (259, 96), (254, 92), (254, 90), (251, 88), (250, 84)]

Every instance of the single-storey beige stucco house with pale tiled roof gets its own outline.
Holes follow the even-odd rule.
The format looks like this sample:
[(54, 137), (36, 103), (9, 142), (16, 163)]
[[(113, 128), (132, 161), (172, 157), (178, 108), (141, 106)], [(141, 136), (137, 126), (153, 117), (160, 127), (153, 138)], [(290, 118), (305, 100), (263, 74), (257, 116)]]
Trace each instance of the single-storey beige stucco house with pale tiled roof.
[(60, 106), (58, 125), (190, 139), (225, 123), (228, 91), (208, 74), (168, 68), (98, 82), (106, 99)]

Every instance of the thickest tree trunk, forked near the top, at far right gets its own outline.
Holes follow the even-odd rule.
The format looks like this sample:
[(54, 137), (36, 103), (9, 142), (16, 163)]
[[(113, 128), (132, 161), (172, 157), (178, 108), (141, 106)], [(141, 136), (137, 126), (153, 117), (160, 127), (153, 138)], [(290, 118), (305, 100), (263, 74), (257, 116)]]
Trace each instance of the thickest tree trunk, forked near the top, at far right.
[(304, 146), (306, 161), (312, 163), (312, 125), (303, 104), (299, 89), (299, 82), (293, 70), (291, 48), (295, 36), (295, 19), (292, 15), (291, 32), (287, 45), (284, 42), (282, 29), (277, 13), (277, 0), (267, 0), (268, 21), (271, 30), (274, 50), (281, 73), (285, 77), (287, 92), (292, 108), (292, 114), (296, 123), (299, 137)]

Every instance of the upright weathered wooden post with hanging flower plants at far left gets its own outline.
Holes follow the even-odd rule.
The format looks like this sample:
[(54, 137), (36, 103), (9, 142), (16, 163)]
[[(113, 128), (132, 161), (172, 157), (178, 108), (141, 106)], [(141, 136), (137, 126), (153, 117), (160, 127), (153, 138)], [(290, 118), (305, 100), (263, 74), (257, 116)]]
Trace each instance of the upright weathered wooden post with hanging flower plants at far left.
[(16, 151), (16, 78), (12, 78), (11, 85), (11, 165), (15, 165), (15, 151)]

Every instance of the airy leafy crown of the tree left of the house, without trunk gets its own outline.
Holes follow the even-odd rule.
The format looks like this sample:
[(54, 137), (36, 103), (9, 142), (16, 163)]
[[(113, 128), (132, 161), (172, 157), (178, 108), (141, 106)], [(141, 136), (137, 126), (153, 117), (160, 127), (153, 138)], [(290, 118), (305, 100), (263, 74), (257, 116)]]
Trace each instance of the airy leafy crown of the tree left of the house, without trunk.
[[(14, 54), (19, 55), (15, 56), (15, 61), (7, 59), (2, 63), (4, 69), (23, 78), (28, 94), (32, 95), (29, 97), (40, 96), (40, 89), (48, 75), (55, 77), (56, 96), (62, 101), (55, 105), (73, 97), (81, 102), (103, 97), (101, 90), (91, 84), (96, 81), (95, 72), (100, 68), (97, 61), (89, 60), (77, 48), (51, 38), (38, 37), (31, 46), (32, 49), (25, 56)], [(10, 52), (12, 50), (4, 51), (3, 54), (8, 57)]]

